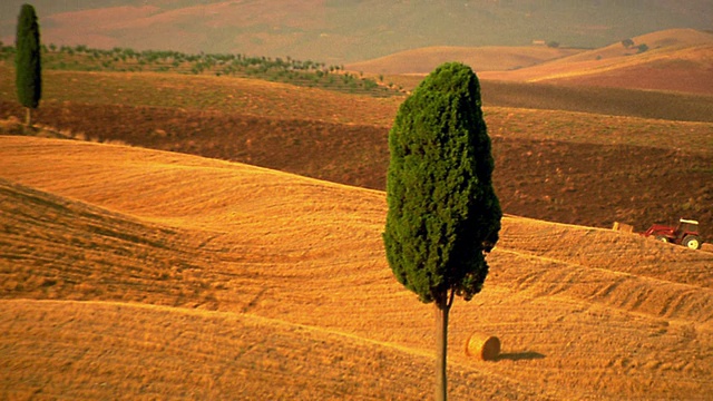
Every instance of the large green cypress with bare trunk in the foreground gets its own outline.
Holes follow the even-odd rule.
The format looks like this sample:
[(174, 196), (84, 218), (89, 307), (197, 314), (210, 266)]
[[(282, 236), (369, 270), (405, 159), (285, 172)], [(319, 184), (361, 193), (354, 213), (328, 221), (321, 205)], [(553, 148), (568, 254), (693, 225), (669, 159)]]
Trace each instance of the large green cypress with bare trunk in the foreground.
[(416, 88), (399, 108), (389, 149), (387, 258), (401, 284), (436, 305), (436, 398), (446, 400), (450, 307), (456, 295), (469, 301), (482, 288), (502, 216), (470, 67), (441, 65)]

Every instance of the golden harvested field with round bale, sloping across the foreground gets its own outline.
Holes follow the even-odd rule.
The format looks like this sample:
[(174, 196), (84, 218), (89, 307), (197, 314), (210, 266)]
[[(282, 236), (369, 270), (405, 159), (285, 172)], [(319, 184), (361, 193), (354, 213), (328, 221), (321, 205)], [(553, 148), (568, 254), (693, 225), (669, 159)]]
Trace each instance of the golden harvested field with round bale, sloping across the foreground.
[[(0, 137), (0, 399), (432, 394), (432, 306), (387, 265), (382, 192)], [(489, 261), (451, 313), (452, 399), (713, 391), (713, 254), (507, 216)]]

